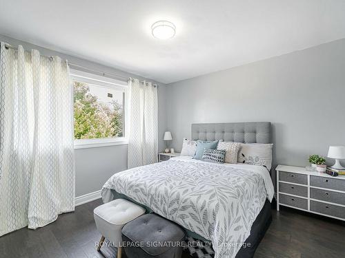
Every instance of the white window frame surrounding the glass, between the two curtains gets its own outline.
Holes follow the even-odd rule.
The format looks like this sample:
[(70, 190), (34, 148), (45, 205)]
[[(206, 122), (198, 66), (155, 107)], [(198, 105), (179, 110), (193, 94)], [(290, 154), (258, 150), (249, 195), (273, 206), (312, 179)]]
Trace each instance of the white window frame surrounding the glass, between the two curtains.
[[(81, 83), (90, 83), (93, 85), (99, 85), (100, 87), (106, 87), (109, 89), (121, 89), (124, 90), (124, 137), (114, 137), (114, 138), (92, 138), (92, 139), (75, 139), (74, 148), (75, 149), (86, 149), (95, 147), (106, 147), (114, 145), (128, 144), (128, 84), (127, 82), (116, 80), (113, 78), (108, 78), (105, 76), (99, 76), (97, 74), (91, 74), (89, 72), (83, 72), (76, 69), (70, 69), (70, 85), (72, 87), (72, 94), (74, 96), (73, 81), (79, 81)], [(72, 110), (73, 116), (73, 131), (75, 129), (75, 114), (74, 108)], [(74, 137), (74, 133), (73, 133)]]

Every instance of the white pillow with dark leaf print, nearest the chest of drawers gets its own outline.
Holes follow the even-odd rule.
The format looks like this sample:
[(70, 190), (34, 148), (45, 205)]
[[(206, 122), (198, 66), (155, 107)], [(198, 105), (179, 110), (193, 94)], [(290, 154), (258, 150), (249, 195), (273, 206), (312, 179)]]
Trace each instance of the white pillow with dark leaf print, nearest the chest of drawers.
[(238, 152), (238, 162), (257, 166), (272, 167), (273, 144), (242, 143)]

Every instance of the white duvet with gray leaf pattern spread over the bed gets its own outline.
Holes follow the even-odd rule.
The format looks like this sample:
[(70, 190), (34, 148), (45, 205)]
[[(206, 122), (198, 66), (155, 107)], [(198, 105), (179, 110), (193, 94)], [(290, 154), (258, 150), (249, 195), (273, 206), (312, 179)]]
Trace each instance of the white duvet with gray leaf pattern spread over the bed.
[(274, 193), (262, 166), (189, 157), (112, 175), (103, 186), (103, 202), (114, 199), (112, 189), (210, 239), (216, 258), (235, 257), (266, 198), (271, 201)]

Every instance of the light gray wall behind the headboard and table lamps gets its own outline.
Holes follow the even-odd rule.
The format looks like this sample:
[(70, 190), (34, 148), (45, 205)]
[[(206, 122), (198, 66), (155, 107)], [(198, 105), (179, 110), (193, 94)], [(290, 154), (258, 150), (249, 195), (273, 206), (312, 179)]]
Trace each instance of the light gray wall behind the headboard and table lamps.
[(308, 155), (345, 145), (345, 39), (166, 88), (178, 151), (193, 122), (273, 122), (273, 168), (305, 166)]

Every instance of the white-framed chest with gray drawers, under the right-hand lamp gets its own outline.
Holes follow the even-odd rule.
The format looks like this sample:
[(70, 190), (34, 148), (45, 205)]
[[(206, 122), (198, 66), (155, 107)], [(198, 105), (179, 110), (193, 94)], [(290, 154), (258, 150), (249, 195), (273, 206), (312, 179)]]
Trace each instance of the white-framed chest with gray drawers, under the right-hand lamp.
[(277, 166), (277, 211), (288, 206), (345, 220), (345, 176), (331, 177), (298, 166)]

